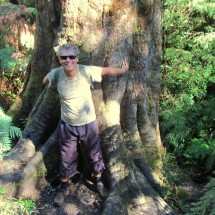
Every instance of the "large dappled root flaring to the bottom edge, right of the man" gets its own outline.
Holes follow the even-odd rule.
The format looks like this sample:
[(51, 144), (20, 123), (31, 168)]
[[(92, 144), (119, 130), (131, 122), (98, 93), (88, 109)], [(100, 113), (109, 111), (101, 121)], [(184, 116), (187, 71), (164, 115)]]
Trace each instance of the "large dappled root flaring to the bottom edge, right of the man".
[(120, 131), (113, 126), (103, 134), (104, 154), (111, 176), (103, 214), (175, 214), (128, 156)]

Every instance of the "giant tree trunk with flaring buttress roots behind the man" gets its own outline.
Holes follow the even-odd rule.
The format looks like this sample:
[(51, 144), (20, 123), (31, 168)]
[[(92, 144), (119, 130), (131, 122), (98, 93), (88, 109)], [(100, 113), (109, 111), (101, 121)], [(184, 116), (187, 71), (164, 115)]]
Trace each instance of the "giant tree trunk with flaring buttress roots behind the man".
[(127, 61), (130, 65), (127, 74), (105, 77), (93, 90), (109, 188), (103, 214), (174, 214), (159, 196), (162, 189), (151, 168), (163, 153), (158, 128), (161, 2), (45, 2), (36, 1), (31, 76), (17, 115), (31, 113), (24, 137), (4, 160), (1, 184), (10, 182), (8, 189), (14, 195), (28, 195), (25, 187), (38, 182), (32, 174), (58, 144), (56, 86), (46, 87), (35, 100), (42, 77), (57, 65), (54, 49), (70, 42), (80, 48), (80, 63), (120, 67)]

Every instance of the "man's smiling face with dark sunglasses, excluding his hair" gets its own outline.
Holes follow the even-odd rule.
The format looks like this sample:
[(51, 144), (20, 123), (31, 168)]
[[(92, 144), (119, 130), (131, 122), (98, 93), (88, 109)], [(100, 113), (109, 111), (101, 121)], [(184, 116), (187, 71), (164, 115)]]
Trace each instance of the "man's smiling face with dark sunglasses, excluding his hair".
[(59, 56), (59, 62), (63, 66), (65, 72), (73, 72), (77, 68), (78, 57), (75, 56), (74, 50), (63, 49)]

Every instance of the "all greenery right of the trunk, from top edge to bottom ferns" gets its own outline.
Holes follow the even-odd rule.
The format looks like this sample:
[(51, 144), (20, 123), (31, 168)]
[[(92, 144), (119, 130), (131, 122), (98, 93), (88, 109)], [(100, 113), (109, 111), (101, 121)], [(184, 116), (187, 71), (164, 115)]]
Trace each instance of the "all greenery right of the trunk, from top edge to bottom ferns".
[[(182, 214), (214, 214), (215, 2), (162, 2), (164, 52), (159, 123), (167, 149), (162, 164), (166, 199), (172, 199)], [(206, 184), (194, 183), (197, 173), (210, 176)], [(192, 203), (187, 202), (192, 193), (184, 189), (186, 183), (204, 190)]]

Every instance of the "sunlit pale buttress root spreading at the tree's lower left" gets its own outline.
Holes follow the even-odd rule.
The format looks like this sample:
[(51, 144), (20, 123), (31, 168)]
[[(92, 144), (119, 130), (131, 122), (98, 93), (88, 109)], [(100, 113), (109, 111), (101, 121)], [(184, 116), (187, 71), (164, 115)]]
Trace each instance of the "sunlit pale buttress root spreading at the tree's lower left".
[(0, 186), (7, 185), (7, 192), (10, 196), (26, 198), (37, 196), (38, 180), (44, 176), (44, 173), (42, 177), (37, 175), (37, 170), (44, 165), (43, 158), (57, 143), (58, 136), (59, 133), (56, 130), (36, 153), (31, 140), (19, 140), (10, 155), (4, 159), (0, 175)]

